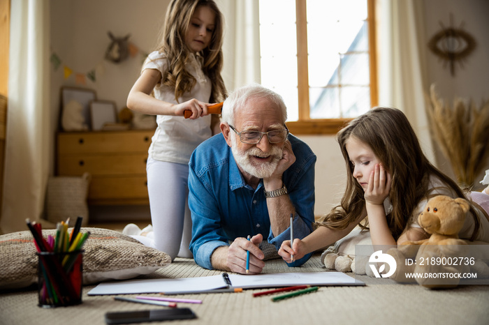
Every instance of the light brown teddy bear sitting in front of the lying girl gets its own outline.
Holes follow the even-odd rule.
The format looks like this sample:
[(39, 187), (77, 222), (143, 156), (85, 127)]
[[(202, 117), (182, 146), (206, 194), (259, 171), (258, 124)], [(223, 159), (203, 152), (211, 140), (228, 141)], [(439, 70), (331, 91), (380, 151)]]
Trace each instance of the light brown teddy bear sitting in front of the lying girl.
[[(408, 241), (388, 250), (387, 254), (393, 256), (397, 264), (390, 278), (396, 282), (417, 282), (428, 288), (457, 287), (460, 279), (455, 274), (470, 271), (469, 265), (456, 262), (466, 257), (469, 250), (467, 243), (458, 238), (467, 211), (466, 199), (445, 195), (432, 197), (418, 216), (418, 225), (431, 234), (430, 238)], [(424, 276), (413, 279), (407, 274)]]

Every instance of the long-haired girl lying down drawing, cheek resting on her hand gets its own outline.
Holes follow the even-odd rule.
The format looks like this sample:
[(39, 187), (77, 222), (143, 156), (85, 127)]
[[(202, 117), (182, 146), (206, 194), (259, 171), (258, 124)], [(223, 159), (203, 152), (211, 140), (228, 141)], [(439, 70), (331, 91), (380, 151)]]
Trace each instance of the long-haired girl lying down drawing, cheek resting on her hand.
[[(291, 255), (300, 259), (342, 239), (366, 216), (373, 245), (426, 239), (430, 235), (417, 219), (430, 197), (467, 199), (454, 181), (428, 161), (398, 109), (371, 109), (340, 130), (337, 139), (347, 171), (341, 204), (309, 236), (295, 239), (292, 247), (290, 241), (282, 243), (279, 255), (286, 262), (291, 262)], [(478, 204), (471, 204), (460, 238), (489, 242), (486, 216)]]

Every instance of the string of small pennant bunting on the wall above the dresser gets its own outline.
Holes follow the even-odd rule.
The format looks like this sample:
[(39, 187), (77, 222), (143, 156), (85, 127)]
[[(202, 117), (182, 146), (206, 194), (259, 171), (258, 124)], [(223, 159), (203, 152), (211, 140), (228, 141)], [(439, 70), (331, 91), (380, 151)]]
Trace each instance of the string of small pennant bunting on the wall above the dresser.
[[(129, 36), (128, 36), (129, 37)], [(148, 56), (146, 52), (143, 52), (140, 50), (139, 47), (134, 45), (131, 42), (127, 42), (127, 53), (129, 54), (129, 57), (131, 58), (136, 58), (138, 54), (141, 54), (143, 56), (143, 59), (141, 60), (141, 63), (143, 63)], [(87, 79), (90, 80), (91, 82), (96, 82), (98, 77), (101, 77), (105, 71), (105, 68), (103, 67), (103, 63), (105, 56), (101, 58), (98, 63), (96, 63), (93, 68), (89, 69), (87, 72), (79, 72), (73, 70), (71, 68), (71, 65), (68, 65), (68, 63), (64, 63), (64, 61), (59, 57), (59, 55), (54, 51), (51, 50), (51, 56), (50, 56), (50, 62), (52, 64), (52, 67), (54, 68), (54, 71), (57, 71), (60, 66), (63, 67), (63, 75), (64, 75), (64, 80), (67, 80), (70, 78), (72, 75), (75, 77), (75, 84), (78, 85), (86, 85), (87, 84)], [(127, 56), (126, 56), (127, 59)]]

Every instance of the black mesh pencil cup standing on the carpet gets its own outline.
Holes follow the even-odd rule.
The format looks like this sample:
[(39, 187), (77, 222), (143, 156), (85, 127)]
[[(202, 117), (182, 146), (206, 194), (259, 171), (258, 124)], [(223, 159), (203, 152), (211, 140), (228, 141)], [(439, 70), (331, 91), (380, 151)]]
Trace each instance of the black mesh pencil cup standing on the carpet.
[(38, 306), (44, 308), (82, 303), (83, 253), (38, 252)]

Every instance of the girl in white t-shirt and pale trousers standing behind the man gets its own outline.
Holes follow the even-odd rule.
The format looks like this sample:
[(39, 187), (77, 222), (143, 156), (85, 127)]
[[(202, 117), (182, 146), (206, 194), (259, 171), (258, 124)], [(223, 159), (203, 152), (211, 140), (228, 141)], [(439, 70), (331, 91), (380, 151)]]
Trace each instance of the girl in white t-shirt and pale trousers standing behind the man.
[[(210, 103), (224, 100), (221, 77), (223, 17), (212, 0), (172, 0), (159, 46), (147, 57), (127, 98), (127, 107), (156, 115), (149, 146), (147, 187), (152, 234), (134, 236), (175, 257), (192, 257), (187, 179), (192, 151), (219, 130)], [(153, 96), (152, 96), (153, 93)], [(184, 119), (184, 111), (192, 115)], [(136, 231), (135, 231), (136, 228)], [(138, 235), (130, 224), (125, 234)]]

